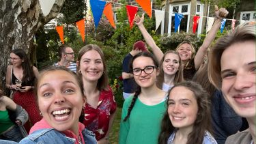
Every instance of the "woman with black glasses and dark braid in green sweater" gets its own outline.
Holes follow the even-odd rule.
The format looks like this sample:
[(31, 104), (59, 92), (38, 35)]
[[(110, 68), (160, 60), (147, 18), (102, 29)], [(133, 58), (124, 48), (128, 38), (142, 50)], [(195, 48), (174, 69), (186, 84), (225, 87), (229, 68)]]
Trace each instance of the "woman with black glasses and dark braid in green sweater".
[(119, 144), (157, 143), (160, 121), (165, 113), (165, 91), (156, 86), (159, 74), (154, 55), (141, 52), (130, 63), (134, 80), (139, 85), (134, 96), (127, 98), (122, 109)]

